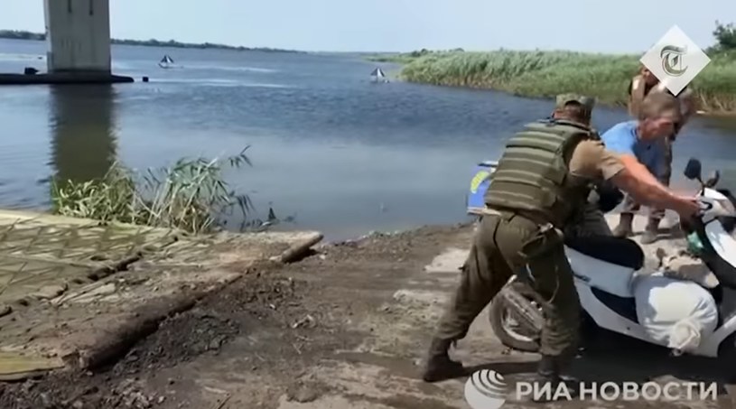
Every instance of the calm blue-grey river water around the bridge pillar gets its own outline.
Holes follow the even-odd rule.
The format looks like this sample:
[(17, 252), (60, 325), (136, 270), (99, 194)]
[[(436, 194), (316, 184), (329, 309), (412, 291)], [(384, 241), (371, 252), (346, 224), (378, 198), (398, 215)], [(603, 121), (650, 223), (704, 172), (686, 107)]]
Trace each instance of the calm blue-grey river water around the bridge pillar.
[[(169, 54), (179, 70), (156, 65)], [(44, 42), (0, 40), (0, 71), (45, 70)], [(261, 218), (269, 204), (330, 239), (463, 221), (475, 163), (498, 156), (547, 100), (368, 81), (348, 54), (113, 46), (114, 87), (0, 88), (0, 207), (47, 209), (49, 181), (93, 178), (119, 160), (137, 169), (250, 145), (253, 167), (228, 173)], [(389, 73), (397, 66), (382, 65)], [(139, 80), (150, 77), (150, 82)], [(594, 125), (627, 118), (598, 107)], [(736, 171), (736, 123), (698, 118), (675, 148)]]

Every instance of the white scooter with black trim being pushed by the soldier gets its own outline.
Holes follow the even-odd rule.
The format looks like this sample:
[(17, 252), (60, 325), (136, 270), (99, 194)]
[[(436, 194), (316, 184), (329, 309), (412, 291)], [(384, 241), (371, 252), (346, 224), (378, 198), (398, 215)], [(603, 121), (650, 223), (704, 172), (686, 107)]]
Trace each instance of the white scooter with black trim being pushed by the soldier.
[[(479, 164), (470, 183), (470, 215), (482, 215), (482, 196), (496, 167), (493, 162)], [(697, 194), (701, 211), (684, 228), (688, 242), (697, 243), (697, 257), (718, 280), (712, 288), (703, 288), (713, 295), (719, 316), (716, 330), (688, 352), (703, 357), (736, 357), (736, 239), (731, 236), (736, 226), (736, 199), (731, 191), (715, 189), (719, 172), (703, 182), (702, 165), (696, 159), (687, 163), (685, 177), (701, 185)], [(585, 332), (602, 328), (666, 347), (665, 342), (649, 337), (638, 321), (633, 287), (645, 256), (635, 241), (618, 237), (565, 238), (565, 253), (573, 267)], [(539, 295), (523, 279), (513, 276), (491, 302), (489, 320), (498, 339), (508, 348), (538, 351), (544, 324), (541, 305)]]

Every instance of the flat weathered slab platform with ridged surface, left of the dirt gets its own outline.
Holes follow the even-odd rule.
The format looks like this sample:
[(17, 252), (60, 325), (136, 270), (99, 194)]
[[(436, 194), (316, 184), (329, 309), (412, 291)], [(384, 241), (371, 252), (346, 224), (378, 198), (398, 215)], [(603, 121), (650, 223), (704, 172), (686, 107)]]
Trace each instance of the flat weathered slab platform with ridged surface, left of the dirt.
[(318, 232), (182, 232), (0, 210), (0, 380), (105, 365), (246, 273)]

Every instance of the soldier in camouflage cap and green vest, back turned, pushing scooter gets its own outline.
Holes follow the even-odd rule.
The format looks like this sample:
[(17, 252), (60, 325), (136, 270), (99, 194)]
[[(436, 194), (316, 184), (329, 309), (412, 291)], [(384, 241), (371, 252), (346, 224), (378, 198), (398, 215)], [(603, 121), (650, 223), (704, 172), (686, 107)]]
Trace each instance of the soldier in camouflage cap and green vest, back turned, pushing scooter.
[[(528, 276), (547, 300), (537, 376), (559, 382), (577, 349), (580, 325), (580, 304), (561, 231), (579, 221), (592, 183), (610, 181), (638, 200), (674, 209), (683, 218), (698, 210), (692, 198), (676, 196), (646, 168), (629, 167), (605, 149), (585, 125), (590, 123), (591, 98), (565, 95), (557, 102), (551, 120), (528, 124), (508, 140), (491, 176), (487, 211), (462, 267), (461, 283), (430, 344), (426, 382), (466, 375), (449, 349), (517, 273)], [(671, 126), (666, 128), (670, 119), (660, 124), (662, 135), (671, 131)]]

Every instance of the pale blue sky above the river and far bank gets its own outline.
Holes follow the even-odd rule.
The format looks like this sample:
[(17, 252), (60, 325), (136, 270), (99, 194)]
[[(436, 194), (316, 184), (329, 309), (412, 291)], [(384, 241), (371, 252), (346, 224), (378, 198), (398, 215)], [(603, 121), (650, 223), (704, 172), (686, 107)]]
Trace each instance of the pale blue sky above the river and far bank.
[[(43, 32), (44, 0), (2, 0), (0, 29)], [(61, 0), (49, 0), (61, 1)], [(303, 51), (643, 52), (673, 25), (713, 44), (736, 0), (110, 0), (114, 38)]]

